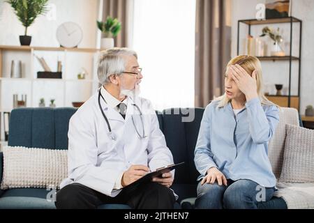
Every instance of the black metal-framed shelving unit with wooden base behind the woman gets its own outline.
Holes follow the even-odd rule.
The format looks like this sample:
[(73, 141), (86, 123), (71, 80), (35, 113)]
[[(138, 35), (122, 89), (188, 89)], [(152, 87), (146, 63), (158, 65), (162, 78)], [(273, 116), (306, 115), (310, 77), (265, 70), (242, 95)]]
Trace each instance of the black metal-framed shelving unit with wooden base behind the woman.
[[(299, 110), (300, 107), (300, 80), (301, 80), (301, 39), (302, 39), (302, 21), (296, 17), (283, 17), (268, 20), (239, 20), (238, 21), (238, 33), (237, 33), (237, 55), (239, 55), (240, 48), (240, 24), (245, 24), (248, 26), (248, 35), (251, 35), (253, 25), (263, 25), (263, 24), (290, 24), (290, 53), (287, 56), (257, 56), (260, 61), (288, 61), (289, 62), (289, 76), (288, 76), (288, 93), (287, 95), (266, 95), (269, 100), (280, 105), (281, 107), (294, 107)], [(292, 55), (292, 24), (299, 23), (299, 55)], [(292, 95), (291, 85), (292, 85), (292, 61), (298, 63), (298, 86), (297, 95)]]

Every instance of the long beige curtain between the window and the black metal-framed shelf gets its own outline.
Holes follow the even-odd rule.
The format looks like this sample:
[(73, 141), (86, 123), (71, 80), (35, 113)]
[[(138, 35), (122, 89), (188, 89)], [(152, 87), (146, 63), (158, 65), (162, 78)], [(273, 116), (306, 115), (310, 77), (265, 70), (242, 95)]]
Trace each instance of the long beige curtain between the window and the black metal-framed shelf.
[(224, 92), (231, 55), (230, 0), (196, 0), (195, 107)]

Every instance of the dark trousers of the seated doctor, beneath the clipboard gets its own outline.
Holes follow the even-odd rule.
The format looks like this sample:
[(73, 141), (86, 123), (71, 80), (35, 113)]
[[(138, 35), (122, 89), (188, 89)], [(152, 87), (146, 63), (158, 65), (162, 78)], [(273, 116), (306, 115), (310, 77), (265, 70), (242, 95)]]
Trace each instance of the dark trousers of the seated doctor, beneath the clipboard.
[(66, 185), (57, 192), (57, 208), (97, 208), (102, 204), (126, 204), (134, 209), (172, 209), (175, 197), (169, 188), (159, 183), (126, 187), (117, 197), (109, 197), (80, 183)]

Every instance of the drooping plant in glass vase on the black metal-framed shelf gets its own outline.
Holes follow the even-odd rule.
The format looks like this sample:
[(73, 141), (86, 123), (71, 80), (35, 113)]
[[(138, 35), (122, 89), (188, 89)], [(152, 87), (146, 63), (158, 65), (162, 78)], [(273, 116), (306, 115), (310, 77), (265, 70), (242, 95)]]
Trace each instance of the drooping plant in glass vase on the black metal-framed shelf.
[(277, 31), (274, 31), (273, 29), (269, 29), (268, 26), (265, 26), (262, 29), (262, 35), (260, 35), (260, 37), (262, 36), (269, 36), (271, 40), (274, 40), (274, 44), (271, 47), (271, 56), (285, 56), (285, 52), (281, 47), (283, 38), (279, 35), (279, 28)]

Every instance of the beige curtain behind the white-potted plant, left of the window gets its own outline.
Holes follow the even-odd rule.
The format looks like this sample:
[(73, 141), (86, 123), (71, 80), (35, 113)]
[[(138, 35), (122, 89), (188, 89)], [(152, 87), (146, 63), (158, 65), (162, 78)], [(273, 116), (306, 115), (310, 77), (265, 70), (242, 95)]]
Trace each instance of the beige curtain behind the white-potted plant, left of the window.
[(128, 47), (129, 6), (129, 0), (103, 0), (103, 21), (110, 15), (111, 17), (117, 17), (121, 22), (121, 31), (114, 38), (115, 47)]

